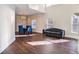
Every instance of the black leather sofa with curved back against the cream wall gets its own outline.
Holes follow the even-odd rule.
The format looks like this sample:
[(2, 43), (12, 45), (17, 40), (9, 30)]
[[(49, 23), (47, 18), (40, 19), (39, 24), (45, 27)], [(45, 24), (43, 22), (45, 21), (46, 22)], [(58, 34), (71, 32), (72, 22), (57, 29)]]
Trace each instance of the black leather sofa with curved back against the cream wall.
[(58, 28), (43, 29), (43, 34), (52, 37), (64, 38), (65, 31)]

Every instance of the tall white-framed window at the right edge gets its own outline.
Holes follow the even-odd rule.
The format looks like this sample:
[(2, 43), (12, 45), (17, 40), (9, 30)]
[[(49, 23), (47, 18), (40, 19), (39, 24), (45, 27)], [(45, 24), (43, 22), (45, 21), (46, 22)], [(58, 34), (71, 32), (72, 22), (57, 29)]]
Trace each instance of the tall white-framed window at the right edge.
[(72, 33), (78, 34), (79, 31), (79, 16), (74, 15), (71, 21), (71, 31)]

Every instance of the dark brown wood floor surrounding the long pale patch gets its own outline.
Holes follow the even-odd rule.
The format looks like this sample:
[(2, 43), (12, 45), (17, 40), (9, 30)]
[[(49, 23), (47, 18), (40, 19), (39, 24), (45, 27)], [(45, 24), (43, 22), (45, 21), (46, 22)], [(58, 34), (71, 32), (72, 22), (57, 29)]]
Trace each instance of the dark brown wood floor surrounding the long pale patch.
[(77, 40), (49, 45), (32, 46), (29, 41), (55, 40), (57, 38), (47, 37), (43, 34), (35, 36), (19, 37), (2, 54), (77, 54)]

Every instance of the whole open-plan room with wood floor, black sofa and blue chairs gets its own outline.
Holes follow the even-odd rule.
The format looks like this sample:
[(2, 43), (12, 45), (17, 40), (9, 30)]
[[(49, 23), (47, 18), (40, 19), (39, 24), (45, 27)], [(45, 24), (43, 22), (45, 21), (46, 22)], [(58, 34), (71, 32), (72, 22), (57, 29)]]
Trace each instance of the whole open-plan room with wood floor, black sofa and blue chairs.
[(1, 54), (78, 54), (79, 4), (1, 4)]

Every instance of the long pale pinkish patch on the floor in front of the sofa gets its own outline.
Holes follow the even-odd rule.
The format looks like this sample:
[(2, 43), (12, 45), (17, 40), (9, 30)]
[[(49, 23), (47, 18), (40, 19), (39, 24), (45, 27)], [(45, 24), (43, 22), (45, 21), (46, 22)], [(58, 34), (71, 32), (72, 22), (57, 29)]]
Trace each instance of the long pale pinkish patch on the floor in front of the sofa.
[(64, 43), (69, 41), (70, 40), (59, 39), (59, 40), (48, 40), (48, 41), (32, 41), (32, 42), (26, 42), (26, 43), (30, 45), (46, 45), (46, 44), (53, 44), (53, 43)]

